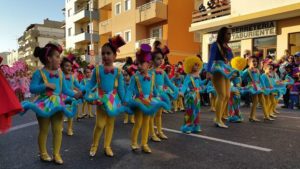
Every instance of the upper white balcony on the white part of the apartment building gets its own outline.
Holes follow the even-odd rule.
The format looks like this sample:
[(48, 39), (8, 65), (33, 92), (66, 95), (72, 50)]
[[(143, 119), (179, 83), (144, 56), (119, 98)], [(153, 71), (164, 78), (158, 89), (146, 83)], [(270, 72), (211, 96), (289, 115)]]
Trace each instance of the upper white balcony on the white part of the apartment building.
[(73, 21), (75, 23), (85, 23), (90, 20), (98, 20), (99, 14), (97, 10), (80, 9), (74, 13)]

